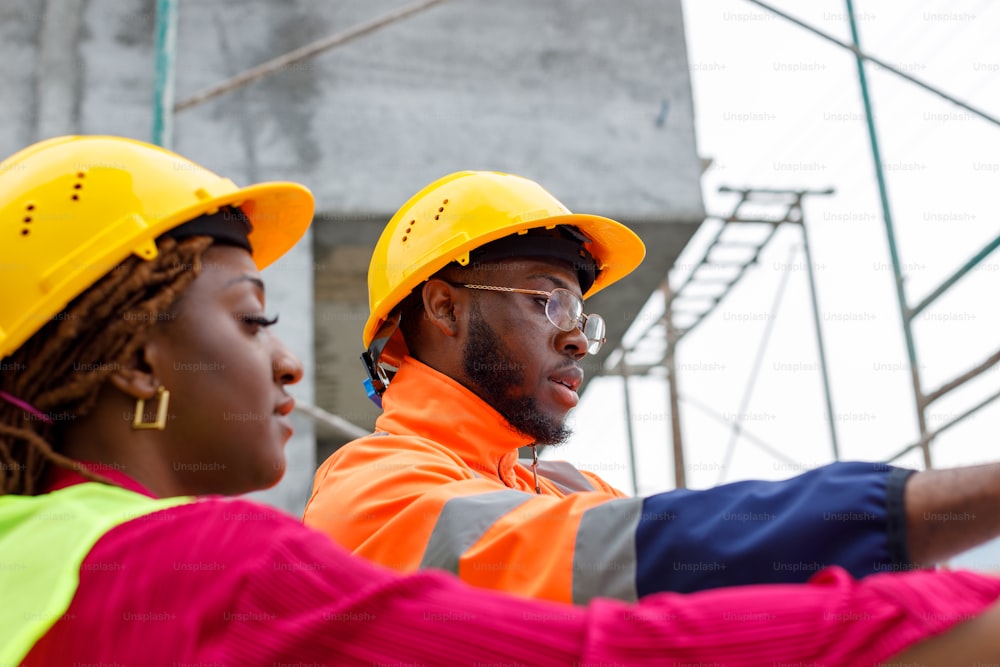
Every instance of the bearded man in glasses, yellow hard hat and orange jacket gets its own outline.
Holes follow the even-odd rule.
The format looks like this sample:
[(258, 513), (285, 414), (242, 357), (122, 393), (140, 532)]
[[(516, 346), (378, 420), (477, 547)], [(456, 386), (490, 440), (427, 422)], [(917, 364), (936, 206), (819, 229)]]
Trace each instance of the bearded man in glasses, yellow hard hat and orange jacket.
[(620, 223), (517, 176), (460, 172), (414, 195), (368, 273), (362, 360), (384, 412), (320, 467), (305, 522), (397, 570), (574, 603), (800, 582), (828, 565), (863, 577), (1000, 534), (997, 465), (835, 463), (629, 498), (567, 463), (520, 463), (519, 448), (569, 435), (577, 362), (604, 339), (583, 299), (644, 252)]

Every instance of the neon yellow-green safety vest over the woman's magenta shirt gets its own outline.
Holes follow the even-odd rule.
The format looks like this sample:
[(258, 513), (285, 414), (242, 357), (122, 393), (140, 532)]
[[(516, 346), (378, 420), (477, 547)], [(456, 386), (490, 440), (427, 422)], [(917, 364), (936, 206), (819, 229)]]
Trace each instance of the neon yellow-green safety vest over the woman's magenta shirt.
[(193, 500), (158, 500), (97, 482), (0, 496), (0, 666), (20, 664), (66, 613), (80, 566), (102, 535)]

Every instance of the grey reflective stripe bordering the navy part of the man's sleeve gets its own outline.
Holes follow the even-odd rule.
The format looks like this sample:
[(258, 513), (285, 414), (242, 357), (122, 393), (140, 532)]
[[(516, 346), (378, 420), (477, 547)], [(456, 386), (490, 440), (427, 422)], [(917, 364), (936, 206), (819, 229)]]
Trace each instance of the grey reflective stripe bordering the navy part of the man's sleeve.
[(573, 552), (573, 603), (595, 597), (634, 602), (635, 530), (642, 498), (618, 498), (591, 507), (580, 518)]

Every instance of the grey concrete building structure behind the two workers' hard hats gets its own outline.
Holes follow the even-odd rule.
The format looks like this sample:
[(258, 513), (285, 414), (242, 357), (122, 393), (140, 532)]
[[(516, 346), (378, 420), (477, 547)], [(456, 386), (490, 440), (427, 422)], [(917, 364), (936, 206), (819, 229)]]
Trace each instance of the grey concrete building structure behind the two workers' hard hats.
[[(176, 97), (406, 4), (181, 0)], [(153, 0), (0, 4), (0, 153), (69, 133), (149, 140), (155, 21)], [(311, 236), (265, 275), (269, 307), (312, 369), (296, 397), (364, 429), (377, 414), (358, 361), (368, 258), (423, 185), (508, 171), (631, 226), (646, 261), (587, 306), (612, 342), (704, 217), (679, 0), (450, 0), (180, 112), (174, 135), (238, 183), (315, 192)], [(324, 456), (344, 437), (300, 416), (266, 500), (301, 509), (317, 440)]]

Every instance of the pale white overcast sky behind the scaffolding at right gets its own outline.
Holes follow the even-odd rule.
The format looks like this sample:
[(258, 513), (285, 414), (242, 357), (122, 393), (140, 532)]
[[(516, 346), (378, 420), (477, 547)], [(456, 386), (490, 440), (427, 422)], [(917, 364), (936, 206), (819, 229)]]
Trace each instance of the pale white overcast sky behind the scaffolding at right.
[[(774, 4), (850, 39), (843, 2)], [(886, 459), (915, 442), (918, 431), (854, 57), (745, 0), (688, 0), (684, 11), (699, 153), (712, 160), (703, 179), (707, 211), (731, 211), (733, 195), (719, 194), (720, 185), (836, 190), (808, 198), (805, 219), (841, 458)], [(864, 50), (1000, 117), (995, 3), (861, 0), (855, 12)], [(1000, 235), (1000, 126), (877, 65), (866, 68), (905, 289), (914, 305)], [(702, 226), (678, 260), (672, 284), (690, 272), (717, 224)], [(761, 229), (743, 233), (755, 237)], [(833, 460), (805, 266), (801, 234), (786, 225), (722, 306), (681, 342), (689, 486), (782, 479)], [(1000, 348), (998, 291), (1000, 251), (917, 319), (925, 391)], [(647, 308), (650, 317), (662, 310), (656, 299)], [(630, 386), (638, 491), (670, 489), (666, 382), (634, 378)], [(995, 366), (936, 403), (930, 427), (998, 388)], [(620, 379), (591, 383), (572, 417), (573, 441), (546, 457), (570, 460), (631, 491), (622, 395)], [(734, 424), (775, 451), (735, 437)], [(995, 401), (939, 436), (934, 466), (1000, 459), (998, 433)], [(898, 463), (919, 468), (922, 458)]]

